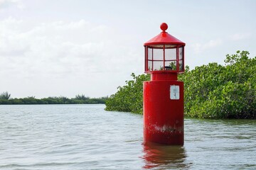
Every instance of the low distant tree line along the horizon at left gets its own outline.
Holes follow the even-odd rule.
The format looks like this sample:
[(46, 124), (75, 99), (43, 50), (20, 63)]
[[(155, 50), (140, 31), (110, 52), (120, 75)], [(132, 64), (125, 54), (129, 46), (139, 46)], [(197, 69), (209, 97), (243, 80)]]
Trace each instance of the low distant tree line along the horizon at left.
[(48, 97), (48, 98), (35, 98), (34, 96), (26, 98), (11, 98), (9, 92), (0, 94), (0, 105), (22, 105), (22, 104), (105, 104), (108, 97), (90, 98), (84, 94), (77, 95), (75, 98), (67, 97)]

